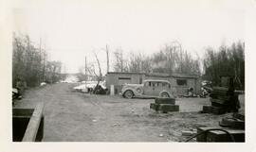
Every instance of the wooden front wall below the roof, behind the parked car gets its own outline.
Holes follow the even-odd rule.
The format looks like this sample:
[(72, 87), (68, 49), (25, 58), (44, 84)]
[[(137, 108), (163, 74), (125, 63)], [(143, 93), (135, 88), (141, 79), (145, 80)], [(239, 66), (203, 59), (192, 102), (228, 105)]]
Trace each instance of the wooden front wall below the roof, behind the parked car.
[[(131, 79), (126, 79), (130, 77)], [(121, 79), (120, 79), (121, 78)], [(124, 78), (124, 79), (122, 79)], [(173, 87), (174, 95), (185, 95), (188, 93), (190, 87), (193, 88), (194, 93), (200, 92), (200, 79), (193, 77), (171, 77), (171, 76), (146, 76), (145, 74), (129, 74), (129, 73), (109, 73), (106, 76), (106, 87), (110, 89), (110, 85), (115, 86), (115, 93), (121, 91), (122, 85), (126, 83), (139, 84), (145, 79), (162, 79), (170, 81)], [(185, 79), (187, 85), (178, 85), (177, 79)]]

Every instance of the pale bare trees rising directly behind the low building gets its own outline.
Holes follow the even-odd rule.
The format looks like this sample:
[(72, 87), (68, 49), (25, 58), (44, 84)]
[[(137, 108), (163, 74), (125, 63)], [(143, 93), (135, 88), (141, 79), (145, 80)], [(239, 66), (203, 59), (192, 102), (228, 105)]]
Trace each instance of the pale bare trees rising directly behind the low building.
[(117, 49), (114, 52), (114, 57), (115, 72), (201, 75), (200, 59), (193, 59), (192, 55), (184, 50), (179, 42), (166, 44), (151, 56), (130, 53), (128, 59), (124, 59), (123, 51)]

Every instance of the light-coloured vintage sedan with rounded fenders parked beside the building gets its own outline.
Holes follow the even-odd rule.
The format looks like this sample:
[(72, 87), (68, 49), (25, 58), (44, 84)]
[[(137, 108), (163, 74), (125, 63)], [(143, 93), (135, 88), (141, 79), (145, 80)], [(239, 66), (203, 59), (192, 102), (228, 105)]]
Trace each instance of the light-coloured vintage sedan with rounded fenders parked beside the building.
[(171, 84), (167, 80), (147, 79), (142, 84), (125, 84), (121, 95), (126, 98), (132, 97), (174, 97)]

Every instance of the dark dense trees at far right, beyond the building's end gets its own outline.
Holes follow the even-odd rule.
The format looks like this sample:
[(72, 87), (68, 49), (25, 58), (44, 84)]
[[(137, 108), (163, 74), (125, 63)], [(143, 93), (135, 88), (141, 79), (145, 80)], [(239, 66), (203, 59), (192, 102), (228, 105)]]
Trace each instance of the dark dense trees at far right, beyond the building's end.
[(236, 88), (245, 89), (245, 43), (233, 42), (222, 45), (218, 50), (206, 49), (203, 59), (204, 79), (213, 85), (220, 83), (220, 76), (233, 76)]

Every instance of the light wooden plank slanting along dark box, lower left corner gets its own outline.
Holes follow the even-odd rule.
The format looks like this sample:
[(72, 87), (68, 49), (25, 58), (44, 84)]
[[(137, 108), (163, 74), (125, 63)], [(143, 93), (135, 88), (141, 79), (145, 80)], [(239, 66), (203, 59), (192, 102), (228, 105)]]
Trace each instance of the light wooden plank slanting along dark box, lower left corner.
[(41, 118), (43, 116), (43, 110), (44, 110), (44, 103), (38, 104), (29, 120), (22, 142), (35, 141), (38, 128), (40, 126)]

